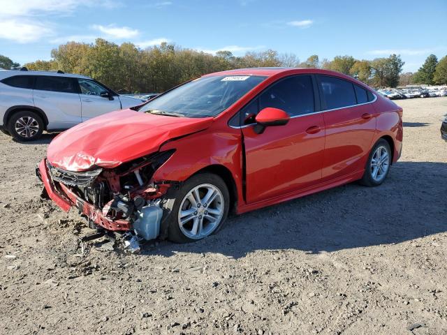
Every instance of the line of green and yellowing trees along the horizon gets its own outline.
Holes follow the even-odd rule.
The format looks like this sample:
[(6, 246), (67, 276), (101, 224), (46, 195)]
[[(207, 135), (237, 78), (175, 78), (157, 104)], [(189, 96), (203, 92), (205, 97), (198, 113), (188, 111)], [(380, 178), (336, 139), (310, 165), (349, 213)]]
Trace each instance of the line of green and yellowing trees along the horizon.
[[(300, 61), (295, 54), (279, 54), (274, 50), (247, 52), (236, 57), (229, 51), (213, 55), (168, 43), (140, 49), (133, 43), (117, 45), (98, 38), (94, 43), (59, 45), (52, 50), (50, 61), (38, 60), (24, 66), (29, 70), (63, 70), (87, 75), (123, 93), (162, 92), (205, 73), (261, 66), (335, 70), (374, 87), (396, 87), (403, 81), (447, 84), (447, 57), (439, 62), (436, 59), (436, 64), (432, 57), (436, 59), (430, 55), (430, 61), (427, 58), (428, 63), (425, 61), (418, 73), (409, 75), (402, 74), (404, 61), (396, 54), (372, 61), (347, 55), (320, 60), (314, 54), (306, 61)], [(19, 64), (0, 55), (0, 68), (15, 66)]]

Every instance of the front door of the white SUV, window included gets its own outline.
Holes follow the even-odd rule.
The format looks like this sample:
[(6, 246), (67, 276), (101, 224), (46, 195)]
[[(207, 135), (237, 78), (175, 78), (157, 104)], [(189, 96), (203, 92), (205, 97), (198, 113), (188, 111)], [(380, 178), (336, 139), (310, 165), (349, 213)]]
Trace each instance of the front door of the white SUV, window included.
[[(98, 115), (121, 110), (121, 102), (106, 87), (94, 80), (78, 78), (82, 104), (82, 121)], [(103, 95), (103, 96), (101, 96)]]

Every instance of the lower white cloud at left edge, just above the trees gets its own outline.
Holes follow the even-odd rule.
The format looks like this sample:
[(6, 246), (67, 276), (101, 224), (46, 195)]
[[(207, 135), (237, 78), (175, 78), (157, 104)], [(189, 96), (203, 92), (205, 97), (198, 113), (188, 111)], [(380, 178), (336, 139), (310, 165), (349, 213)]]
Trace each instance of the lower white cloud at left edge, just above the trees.
[(29, 43), (52, 35), (52, 29), (34, 21), (0, 20), (0, 38)]

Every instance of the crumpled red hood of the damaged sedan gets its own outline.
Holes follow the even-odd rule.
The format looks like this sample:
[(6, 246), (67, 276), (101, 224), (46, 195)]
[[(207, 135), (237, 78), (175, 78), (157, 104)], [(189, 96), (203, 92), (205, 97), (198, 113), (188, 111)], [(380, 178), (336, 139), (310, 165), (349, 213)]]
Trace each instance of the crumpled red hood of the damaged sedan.
[(94, 165), (115, 168), (158, 151), (167, 140), (202, 131), (212, 120), (211, 117), (193, 119), (119, 110), (54, 137), (47, 149), (47, 159), (57, 168), (68, 171), (85, 171)]

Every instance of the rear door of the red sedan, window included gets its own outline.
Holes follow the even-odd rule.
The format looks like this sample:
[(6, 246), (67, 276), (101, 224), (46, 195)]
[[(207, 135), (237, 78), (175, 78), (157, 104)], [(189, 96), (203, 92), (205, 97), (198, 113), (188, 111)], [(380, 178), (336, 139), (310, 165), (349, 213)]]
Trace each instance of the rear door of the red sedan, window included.
[(323, 181), (345, 177), (365, 168), (376, 131), (374, 96), (349, 80), (318, 75), (326, 141)]

